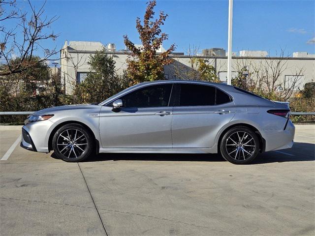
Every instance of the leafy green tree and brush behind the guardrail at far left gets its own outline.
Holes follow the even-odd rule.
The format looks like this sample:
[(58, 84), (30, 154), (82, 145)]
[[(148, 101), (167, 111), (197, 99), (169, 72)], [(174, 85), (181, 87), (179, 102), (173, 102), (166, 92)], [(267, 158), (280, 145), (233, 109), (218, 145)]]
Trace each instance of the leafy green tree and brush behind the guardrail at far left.
[[(37, 111), (63, 105), (60, 76), (51, 75), (48, 64), (33, 56), (28, 66), (24, 61), (20, 73), (0, 76), (1, 111)], [(12, 59), (10, 63), (20, 61)], [(26, 63), (26, 64), (25, 64)], [(26, 116), (1, 116), (0, 122), (22, 122)]]

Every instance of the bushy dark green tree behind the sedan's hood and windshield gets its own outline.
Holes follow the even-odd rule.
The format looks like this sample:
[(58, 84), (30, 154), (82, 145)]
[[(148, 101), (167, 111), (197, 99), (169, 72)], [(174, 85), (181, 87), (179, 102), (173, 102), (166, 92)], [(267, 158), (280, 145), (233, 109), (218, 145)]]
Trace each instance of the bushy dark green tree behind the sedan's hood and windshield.
[(115, 93), (126, 89), (129, 80), (126, 76), (116, 75), (115, 61), (103, 48), (91, 55), (88, 64), (90, 73), (74, 90), (75, 102), (101, 102)]

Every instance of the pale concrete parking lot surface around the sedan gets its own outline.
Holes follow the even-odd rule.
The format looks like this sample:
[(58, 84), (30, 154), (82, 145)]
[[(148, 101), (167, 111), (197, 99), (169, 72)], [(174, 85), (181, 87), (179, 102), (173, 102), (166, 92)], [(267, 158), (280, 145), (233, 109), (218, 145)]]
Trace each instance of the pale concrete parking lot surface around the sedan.
[(0, 127), (3, 236), (315, 235), (315, 125), (251, 165), (215, 154), (66, 163), (20, 148), (20, 134)]

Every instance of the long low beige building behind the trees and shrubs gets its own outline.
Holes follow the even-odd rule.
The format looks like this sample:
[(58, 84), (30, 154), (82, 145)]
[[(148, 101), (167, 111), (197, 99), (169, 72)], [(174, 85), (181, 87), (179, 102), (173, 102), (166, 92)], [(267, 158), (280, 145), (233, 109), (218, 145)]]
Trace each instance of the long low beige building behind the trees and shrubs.
[[(96, 50), (101, 50), (103, 44), (100, 42), (81, 42), (81, 41), (66, 41), (61, 53), (61, 78), (62, 84), (67, 94), (72, 93), (73, 86), (76, 83), (81, 83), (89, 73), (88, 65), (89, 56), (95, 54)], [(245, 52), (245, 51), (241, 51)], [(280, 75), (283, 83), (290, 83), (292, 78), (299, 79), (299, 85), (296, 89), (303, 89), (307, 82), (315, 81), (315, 58), (314, 57), (266, 57), (267, 52), (246, 51), (251, 53), (240, 52), (239, 57), (232, 57), (232, 77), (238, 75), (240, 67), (255, 67), (266, 64), (266, 60), (277, 62), (282, 60), (286, 65)], [(263, 52), (263, 53), (261, 53)], [(122, 51), (107, 51), (116, 62), (116, 71), (118, 75), (122, 75), (126, 69), (126, 59), (130, 55), (127, 50)], [(243, 56), (242, 56), (243, 55)], [(255, 56), (244, 56), (255, 55)], [(260, 56), (257, 56), (260, 55)], [(296, 55), (293, 53), (293, 55)], [(298, 54), (300, 55), (300, 54)], [(195, 69), (191, 67), (192, 57), (183, 53), (173, 53), (170, 55), (174, 62), (164, 67), (164, 75), (166, 79), (184, 79), (191, 80), (190, 72)], [(194, 58), (203, 59), (207, 64), (214, 66), (220, 80), (226, 81), (227, 76), (227, 57), (223, 56), (194, 56)], [(301, 70), (298, 75), (296, 72)], [(279, 86), (278, 86), (279, 87)], [(275, 88), (277, 89), (277, 88)]]

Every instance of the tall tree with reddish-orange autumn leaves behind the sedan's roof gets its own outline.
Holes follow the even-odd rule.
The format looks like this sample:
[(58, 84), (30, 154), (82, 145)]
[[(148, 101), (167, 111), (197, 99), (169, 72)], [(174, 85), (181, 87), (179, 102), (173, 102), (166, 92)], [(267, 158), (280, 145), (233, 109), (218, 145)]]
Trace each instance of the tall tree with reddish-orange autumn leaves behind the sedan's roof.
[(131, 51), (131, 57), (127, 59), (126, 73), (133, 84), (164, 79), (164, 65), (172, 63), (169, 54), (175, 50), (174, 44), (165, 52), (157, 53), (163, 41), (168, 39), (168, 35), (160, 29), (164, 25), (167, 14), (161, 11), (158, 19), (152, 20), (156, 4), (156, 0), (148, 2), (143, 24), (139, 17), (136, 20), (136, 29), (142, 42), (140, 48), (136, 47), (127, 35), (124, 35), (126, 47)]

